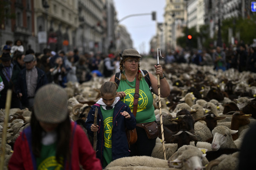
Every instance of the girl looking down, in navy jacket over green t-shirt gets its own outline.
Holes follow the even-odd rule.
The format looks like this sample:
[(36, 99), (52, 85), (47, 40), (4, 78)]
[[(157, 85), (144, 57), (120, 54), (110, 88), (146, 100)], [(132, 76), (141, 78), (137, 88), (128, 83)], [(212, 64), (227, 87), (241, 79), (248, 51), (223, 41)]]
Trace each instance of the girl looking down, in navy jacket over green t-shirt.
[[(125, 128), (132, 130), (136, 120), (130, 108), (120, 101), (115, 82), (105, 82), (100, 88), (101, 99), (91, 107), (86, 120), (88, 134), (97, 132), (96, 157), (106, 167), (111, 161), (130, 155)], [(97, 125), (94, 123), (98, 108)]]

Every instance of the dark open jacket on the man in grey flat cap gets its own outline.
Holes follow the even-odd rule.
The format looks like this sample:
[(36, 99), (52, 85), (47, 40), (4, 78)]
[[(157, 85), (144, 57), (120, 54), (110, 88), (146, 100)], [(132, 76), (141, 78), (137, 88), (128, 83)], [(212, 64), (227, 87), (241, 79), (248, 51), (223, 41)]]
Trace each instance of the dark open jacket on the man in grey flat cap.
[[(41, 69), (35, 67), (37, 69), (37, 88), (35, 89), (35, 92), (42, 87), (43, 85), (46, 85), (48, 83), (46, 73), (42, 71)], [(16, 83), (16, 93), (22, 93), (21, 97), (21, 103), (25, 106), (28, 105), (28, 90), (27, 90), (27, 83), (26, 83), (26, 68), (22, 69), (19, 73), (19, 78)]]

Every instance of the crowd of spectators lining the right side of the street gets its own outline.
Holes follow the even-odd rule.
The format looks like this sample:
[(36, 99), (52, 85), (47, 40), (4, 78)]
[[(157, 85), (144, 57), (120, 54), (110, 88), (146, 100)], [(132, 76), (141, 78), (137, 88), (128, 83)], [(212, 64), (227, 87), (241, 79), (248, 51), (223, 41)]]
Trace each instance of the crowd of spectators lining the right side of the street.
[(228, 47), (213, 49), (172, 51), (165, 56), (166, 63), (193, 63), (196, 65), (212, 65), (214, 69), (223, 71), (235, 68), (240, 72), (252, 71), (256, 73), (256, 45), (241, 42)]

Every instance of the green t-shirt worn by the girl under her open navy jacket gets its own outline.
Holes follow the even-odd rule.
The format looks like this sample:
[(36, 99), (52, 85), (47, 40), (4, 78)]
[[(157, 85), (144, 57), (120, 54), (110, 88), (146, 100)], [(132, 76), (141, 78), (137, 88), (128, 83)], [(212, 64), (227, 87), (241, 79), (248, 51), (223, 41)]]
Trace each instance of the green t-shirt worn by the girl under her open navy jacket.
[(105, 110), (100, 106), (104, 123), (104, 148), (103, 148), (103, 167), (106, 167), (112, 159), (112, 127), (113, 127), (113, 109)]

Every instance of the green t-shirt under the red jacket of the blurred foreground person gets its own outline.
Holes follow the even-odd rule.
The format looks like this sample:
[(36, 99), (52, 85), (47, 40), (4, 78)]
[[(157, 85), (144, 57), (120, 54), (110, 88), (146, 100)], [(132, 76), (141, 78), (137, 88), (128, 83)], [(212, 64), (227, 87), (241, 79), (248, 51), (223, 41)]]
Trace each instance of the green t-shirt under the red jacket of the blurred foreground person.
[(36, 158), (37, 170), (63, 170), (63, 158), (60, 158), (61, 164), (56, 160), (56, 143), (43, 145), (40, 158)]

